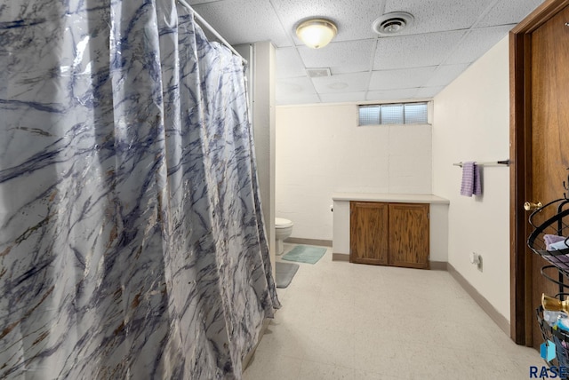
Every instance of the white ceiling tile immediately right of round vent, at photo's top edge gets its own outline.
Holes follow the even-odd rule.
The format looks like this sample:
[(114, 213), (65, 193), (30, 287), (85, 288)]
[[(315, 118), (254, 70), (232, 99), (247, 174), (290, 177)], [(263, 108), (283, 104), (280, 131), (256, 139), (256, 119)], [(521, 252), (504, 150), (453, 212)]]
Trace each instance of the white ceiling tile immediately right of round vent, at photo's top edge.
[(432, 33), (472, 27), (494, 1), (388, 0), (385, 12), (413, 14), (413, 25), (403, 34)]

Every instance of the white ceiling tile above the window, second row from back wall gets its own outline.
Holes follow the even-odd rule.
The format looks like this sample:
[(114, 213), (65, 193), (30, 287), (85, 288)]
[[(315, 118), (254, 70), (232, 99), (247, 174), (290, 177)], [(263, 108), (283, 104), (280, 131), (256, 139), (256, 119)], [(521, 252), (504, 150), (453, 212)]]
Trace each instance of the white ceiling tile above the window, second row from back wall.
[(370, 91), (411, 89), (421, 87), (435, 72), (435, 66), (373, 71)]

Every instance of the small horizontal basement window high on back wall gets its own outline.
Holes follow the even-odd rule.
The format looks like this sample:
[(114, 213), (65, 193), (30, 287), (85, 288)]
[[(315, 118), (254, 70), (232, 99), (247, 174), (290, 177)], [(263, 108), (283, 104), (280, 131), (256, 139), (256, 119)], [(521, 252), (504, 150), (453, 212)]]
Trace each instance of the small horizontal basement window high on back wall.
[(427, 102), (358, 106), (358, 126), (382, 124), (428, 124)]

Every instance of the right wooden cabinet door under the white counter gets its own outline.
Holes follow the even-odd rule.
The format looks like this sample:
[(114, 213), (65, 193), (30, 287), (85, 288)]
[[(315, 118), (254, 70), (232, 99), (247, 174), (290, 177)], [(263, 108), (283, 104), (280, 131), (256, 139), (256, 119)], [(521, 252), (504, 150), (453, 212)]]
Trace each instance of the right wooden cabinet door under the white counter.
[(389, 265), (429, 269), (429, 204), (389, 204)]

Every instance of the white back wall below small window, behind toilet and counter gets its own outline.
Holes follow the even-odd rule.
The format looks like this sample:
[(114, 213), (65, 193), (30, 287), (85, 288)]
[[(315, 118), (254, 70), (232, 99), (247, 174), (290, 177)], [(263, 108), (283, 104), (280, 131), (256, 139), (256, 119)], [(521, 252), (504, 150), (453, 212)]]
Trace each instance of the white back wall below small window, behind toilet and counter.
[(335, 192), (431, 193), (431, 127), (357, 127), (357, 105), (276, 107), (276, 217), (332, 240)]

